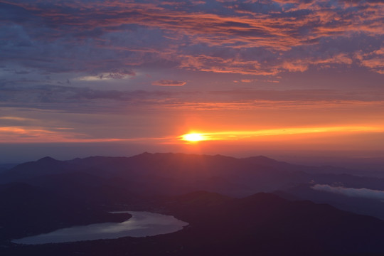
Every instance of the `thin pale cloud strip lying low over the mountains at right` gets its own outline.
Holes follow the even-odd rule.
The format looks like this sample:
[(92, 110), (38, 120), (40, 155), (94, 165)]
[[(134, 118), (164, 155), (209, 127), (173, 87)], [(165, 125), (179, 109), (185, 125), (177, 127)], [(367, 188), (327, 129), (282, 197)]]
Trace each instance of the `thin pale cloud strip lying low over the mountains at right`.
[(329, 186), (316, 184), (311, 186), (316, 191), (326, 191), (330, 193), (337, 193), (344, 196), (359, 197), (359, 198), (373, 198), (384, 200), (384, 191), (373, 190), (368, 188), (344, 188), (342, 186)]

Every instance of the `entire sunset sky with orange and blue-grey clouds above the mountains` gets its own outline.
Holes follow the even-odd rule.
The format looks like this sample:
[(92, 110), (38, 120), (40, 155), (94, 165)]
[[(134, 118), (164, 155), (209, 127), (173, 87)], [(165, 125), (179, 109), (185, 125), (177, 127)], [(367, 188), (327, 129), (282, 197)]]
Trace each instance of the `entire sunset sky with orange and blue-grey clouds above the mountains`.
[(383, 39), (380, 0), (0, 0), (0, 163), (383, 156)]

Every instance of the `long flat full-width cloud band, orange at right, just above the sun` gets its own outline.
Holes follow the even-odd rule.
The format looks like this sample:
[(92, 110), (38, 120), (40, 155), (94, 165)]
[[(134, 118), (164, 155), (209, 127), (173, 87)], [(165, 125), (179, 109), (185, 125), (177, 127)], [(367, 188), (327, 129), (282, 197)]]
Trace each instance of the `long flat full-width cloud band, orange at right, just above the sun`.
[[(159, 82), (159, 81), (157, 81)], [(161, 86), (183, 81), (163, 80)], [(198, 96), (198, 97), (196, 97)], [(0, 82), (1, 107), (69, 112), (119, 112), (140, 108), (159, 110), (365, 110), (383, 112), (380, 91), (342, 90), (97, 90), (70, 85), (23, 85)]]

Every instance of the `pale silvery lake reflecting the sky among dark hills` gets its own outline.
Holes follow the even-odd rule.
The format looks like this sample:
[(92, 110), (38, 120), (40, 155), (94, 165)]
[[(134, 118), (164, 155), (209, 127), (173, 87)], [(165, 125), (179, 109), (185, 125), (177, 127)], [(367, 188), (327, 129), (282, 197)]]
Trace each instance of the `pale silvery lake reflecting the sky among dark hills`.
[(181, 230), (188, 223), (174, 218), (171, 215), (159, 213), (129, 211), (132, 218), (122, 223), (98, 223), (85, 226), (63, 228), (51, 233), (33, 235), (27, 238), (15, 239), (12, 242), (38, 245), (50, 242), (75, 242), (82, 240), (115, 239), (126, 236), (146, 237), (173, 233)]

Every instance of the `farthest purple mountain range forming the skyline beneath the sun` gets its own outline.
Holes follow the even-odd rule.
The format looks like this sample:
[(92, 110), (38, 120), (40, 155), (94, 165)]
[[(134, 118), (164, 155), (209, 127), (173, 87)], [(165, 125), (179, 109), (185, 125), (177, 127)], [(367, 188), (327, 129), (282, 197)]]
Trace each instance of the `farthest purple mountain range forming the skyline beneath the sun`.
[[(46, 157), (15, 166), (0, 174), (0, 182), (31, 182), (37, 176), (80, 171), (101, 178), (119, 178), (133, 190), (146, 187), (154, 193), (174, 194), (206, 190), (231, 196), (284, 190), (300, 183), (343, 183), (356, 188), (384, 189), (383, 178), (329, 174), (336, 167), (301, 166), (265, 156), (235, 159), (196, 154), (139, 154), (132, 157), (92, 156), (58, 161)], [(135, 188), (136, 187), (136, 188)]]

